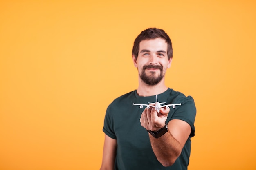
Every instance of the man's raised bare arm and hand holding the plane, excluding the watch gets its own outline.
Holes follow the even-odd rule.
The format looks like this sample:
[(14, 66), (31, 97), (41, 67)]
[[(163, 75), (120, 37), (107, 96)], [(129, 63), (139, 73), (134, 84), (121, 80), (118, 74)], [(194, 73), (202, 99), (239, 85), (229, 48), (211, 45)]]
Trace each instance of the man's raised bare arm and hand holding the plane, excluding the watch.
[[(164, 127), (169, 111), (169, 108), (161, 108), (160, 113), (157, 113), (155, 108), (146, 108), (141, 115), (141, 126), (151, 131), (161, 129)], [(188, 123), (173, 119), (168, 123), (168, 132), (161, 137), (155, 138), (149, 134), (151, 146), (157, 160), (163, 166), (173, 165), (180, 156), (190, 133), (191, 127)]]

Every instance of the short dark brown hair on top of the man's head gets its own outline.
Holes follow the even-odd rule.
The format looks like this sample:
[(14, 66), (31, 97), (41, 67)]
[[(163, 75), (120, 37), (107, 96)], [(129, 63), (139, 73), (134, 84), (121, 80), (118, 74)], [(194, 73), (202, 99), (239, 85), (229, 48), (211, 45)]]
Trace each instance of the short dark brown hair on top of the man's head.
[(143, 40), (162, 38), (167, 43), (167, 55), (168, 60), (173, 58), (173, 47), (170, 37), (162, 29), (148, 28), (142, 31), (134, 41), (132, 48), (132, 55), (135, 56), (136, 60), (139, 54), (139, 43)]

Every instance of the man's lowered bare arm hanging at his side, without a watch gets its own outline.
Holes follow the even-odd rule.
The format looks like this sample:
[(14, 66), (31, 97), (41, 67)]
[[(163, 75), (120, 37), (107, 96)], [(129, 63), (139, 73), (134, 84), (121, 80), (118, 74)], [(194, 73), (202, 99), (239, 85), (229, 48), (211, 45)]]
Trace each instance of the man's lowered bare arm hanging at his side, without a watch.
[(114, 170), (115, 157), (117, 152), (117, 140), (105, 134), (103, 147), (103, 158), (100, 170)]

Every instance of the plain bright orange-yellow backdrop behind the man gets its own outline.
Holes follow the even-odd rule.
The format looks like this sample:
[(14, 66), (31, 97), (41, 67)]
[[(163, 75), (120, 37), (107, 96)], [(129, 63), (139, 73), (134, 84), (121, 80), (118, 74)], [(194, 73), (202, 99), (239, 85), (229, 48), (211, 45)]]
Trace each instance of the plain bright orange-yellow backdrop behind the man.
[[(255, 170), (253, 0), (0, 1), (0, 170), (97, 170), (106, 108), (137, 88), (148, 27), (173, 42), (166, 85), (197, 106), (189, 170)], [(132, 101), (131, 101), (132, 102)]]

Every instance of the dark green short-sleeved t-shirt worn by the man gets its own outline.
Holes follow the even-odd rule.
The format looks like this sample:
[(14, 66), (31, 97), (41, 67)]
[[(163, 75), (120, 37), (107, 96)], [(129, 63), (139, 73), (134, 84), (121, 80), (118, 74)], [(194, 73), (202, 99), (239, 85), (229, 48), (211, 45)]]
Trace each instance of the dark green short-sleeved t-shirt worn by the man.
[(150, 144), (148, 132), (140, 124), (142, 109), (136, 104), (156, 102), (156, 96), (141, 97), (136, 90), (115, 99), (107, 108), (103, 132), (117, 140), (115, 170), (186, 170), (191, 150), (190, 138), (195, 135), (196, 108), (191, 96), (186, 97), (180, 92), (168, 88), (157, 95), (158, 102), (166, 104), (182, 104), (172, 108), (166, 123), (172, 119), (181, 119), (191, 126), (191, 134), (186, 141), (181, 155), (172, 166), (164, 167), (157, 160)]

